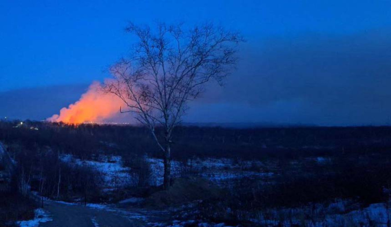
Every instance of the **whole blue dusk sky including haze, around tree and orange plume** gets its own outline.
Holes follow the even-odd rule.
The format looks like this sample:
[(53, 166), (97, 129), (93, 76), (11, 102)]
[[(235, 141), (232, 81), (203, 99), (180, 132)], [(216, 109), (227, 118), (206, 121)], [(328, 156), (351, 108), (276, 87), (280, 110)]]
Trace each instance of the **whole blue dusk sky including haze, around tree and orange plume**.
[(0, 1), (0, 115), (44, 119), (126, 55), (127, 21), (212, 20), (247, 39), (186, 121), (390, 124), (391, 1)]

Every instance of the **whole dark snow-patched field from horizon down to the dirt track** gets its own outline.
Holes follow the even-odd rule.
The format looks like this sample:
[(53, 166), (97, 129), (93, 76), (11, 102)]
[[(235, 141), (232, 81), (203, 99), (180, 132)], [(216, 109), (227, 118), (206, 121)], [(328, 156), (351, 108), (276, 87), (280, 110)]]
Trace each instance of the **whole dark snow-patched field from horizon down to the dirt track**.
[(34, 218), (37, 197), (150, 226), (390, 223), (391, 127), (178, 127), (169, 191), (141, 127), (2, 121), (0, 141), (17, 166), (11, 187), (25, 183), (20, 205), (1, 208), (8, 224)]

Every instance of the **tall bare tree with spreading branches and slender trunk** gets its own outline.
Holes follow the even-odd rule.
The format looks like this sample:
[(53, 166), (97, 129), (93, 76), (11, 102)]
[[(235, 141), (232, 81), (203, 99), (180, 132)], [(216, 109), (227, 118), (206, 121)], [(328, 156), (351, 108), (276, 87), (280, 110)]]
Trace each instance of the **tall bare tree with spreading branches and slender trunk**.
[[(185, 30), (181, 24), (158, 24), (156, 29), (136, 26), (126, 31), (138, 42), (130, 58), (110, 68), (112, 80), (103, 90), (118, 96), (135, 119), (147, 126), (164, 154), (163, 188), (170, 187), (172, 132), (185, 114), (188, 101), (204, 91), (211, 80), (222, 84), (235, 67), (240, 34), (203, 24)], [(164, 130), (157, 136), (155, 128)]]

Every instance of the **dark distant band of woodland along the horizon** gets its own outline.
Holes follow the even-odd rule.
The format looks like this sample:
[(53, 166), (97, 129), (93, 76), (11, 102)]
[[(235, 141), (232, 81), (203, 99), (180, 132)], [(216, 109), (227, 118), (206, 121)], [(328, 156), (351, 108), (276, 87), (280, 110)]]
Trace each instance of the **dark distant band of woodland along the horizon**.
[[(161, 136), (160, 129), (157, 129)], [(128, 125), (65, 125), (61, 123), (0, 121), (0, 140), (7, 144), (50, 147), (85, 158), (107, 154), (149, 154), (160, 157), (148, 129)], [(174, 131), (173, 157), (295, 159), (341, 153), (382, 152), (391, 149), (391, 127), (288, 127), (232, 129), (182, 126)]]

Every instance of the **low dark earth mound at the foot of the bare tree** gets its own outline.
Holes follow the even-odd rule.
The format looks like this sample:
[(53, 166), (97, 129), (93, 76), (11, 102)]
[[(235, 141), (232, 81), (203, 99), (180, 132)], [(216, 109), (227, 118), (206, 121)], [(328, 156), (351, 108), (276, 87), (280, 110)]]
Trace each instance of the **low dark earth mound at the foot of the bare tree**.
[(146, 207), (165, 207), (195, 200), (221, 196), (222, 191), (202, 178), (177, 178), (169, 190), (153, 193), (145, 201)]

